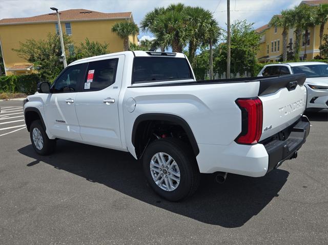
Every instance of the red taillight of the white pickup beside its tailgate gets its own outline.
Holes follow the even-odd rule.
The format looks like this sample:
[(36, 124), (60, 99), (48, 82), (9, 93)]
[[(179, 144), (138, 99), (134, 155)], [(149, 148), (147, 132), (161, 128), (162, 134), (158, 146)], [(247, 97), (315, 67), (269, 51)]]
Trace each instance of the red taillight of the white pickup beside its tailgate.
[(239, 144), (256, 144), (261, 138), (263, 107), (259, 98), (237, 99), (241, 109), (241, 133), (235, 140)]

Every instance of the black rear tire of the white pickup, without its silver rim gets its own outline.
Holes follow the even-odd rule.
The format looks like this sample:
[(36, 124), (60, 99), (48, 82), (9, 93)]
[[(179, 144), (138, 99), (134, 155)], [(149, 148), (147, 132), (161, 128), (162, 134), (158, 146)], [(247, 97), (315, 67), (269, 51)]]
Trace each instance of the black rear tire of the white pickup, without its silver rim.
[[(161, 189), (152, 177), (150, 162), (153, 156), (158, 152), (169, 154), (178, 165), (180, 171), (180, 182), (175, 190), (167, 191)], [(153, 141), (144, 153), (142, 165), (147, 181), (152, 189), (158, 195), (169, 201), (181, 201), (182, 199), (186, 199), (193, 195), (197, 190), (199, 185), (199, 170), (196, 158), (190, 147), (181, 140), (165, 138)]]

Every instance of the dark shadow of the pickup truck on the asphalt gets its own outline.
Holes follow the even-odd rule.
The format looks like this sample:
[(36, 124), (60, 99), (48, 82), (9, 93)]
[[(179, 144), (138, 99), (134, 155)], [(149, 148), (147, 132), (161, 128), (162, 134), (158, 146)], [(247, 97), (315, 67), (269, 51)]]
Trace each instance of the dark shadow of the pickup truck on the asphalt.
[(50, 156), (37, 155), (32, 145), (18, 150), (38, 162), (52, 165), (97, 182), (142, 202), (225, 228), (240, 227), (267, 206), (287, 181), (289, 172), (276, 169), (260, 178), (228, 174), (219, 185), (211, 174), (201, 175), (198, 191), (180, 203), (168, 202), (156, 195), (146, 182), (141, 162), (130, 153), (89, 146), (64, 140), (57, 141), (57, 150)]

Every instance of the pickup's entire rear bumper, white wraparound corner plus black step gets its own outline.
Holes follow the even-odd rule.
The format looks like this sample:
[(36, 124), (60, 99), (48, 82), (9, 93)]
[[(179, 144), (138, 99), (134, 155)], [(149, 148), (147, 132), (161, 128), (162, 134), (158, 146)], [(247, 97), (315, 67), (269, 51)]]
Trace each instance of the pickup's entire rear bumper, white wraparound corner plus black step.
[[(197, 163), (201, 173), (216, 171), (235, 173), (251, 177), (264, 176), (285, 160), (293, 157), (305, 142), (310, 131), (310, 122), (301, 117), (290, 127), (259, 144), (230, 145), (198, 144)], [(285, 136), (284, 140), (279, 134)], [(276, 138), (276, 139), (274, 139)]]

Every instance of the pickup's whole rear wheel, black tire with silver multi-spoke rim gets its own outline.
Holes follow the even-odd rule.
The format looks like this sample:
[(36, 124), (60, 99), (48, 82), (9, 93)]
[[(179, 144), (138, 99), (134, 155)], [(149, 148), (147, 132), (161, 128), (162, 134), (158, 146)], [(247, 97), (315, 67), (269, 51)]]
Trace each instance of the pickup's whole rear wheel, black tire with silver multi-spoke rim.
[(186, 143), (178, 139), (152, 142), (144, 153), (143, 168), (153, 190), (169, 201), (185, 199), (198, 187), (195, 156)]

